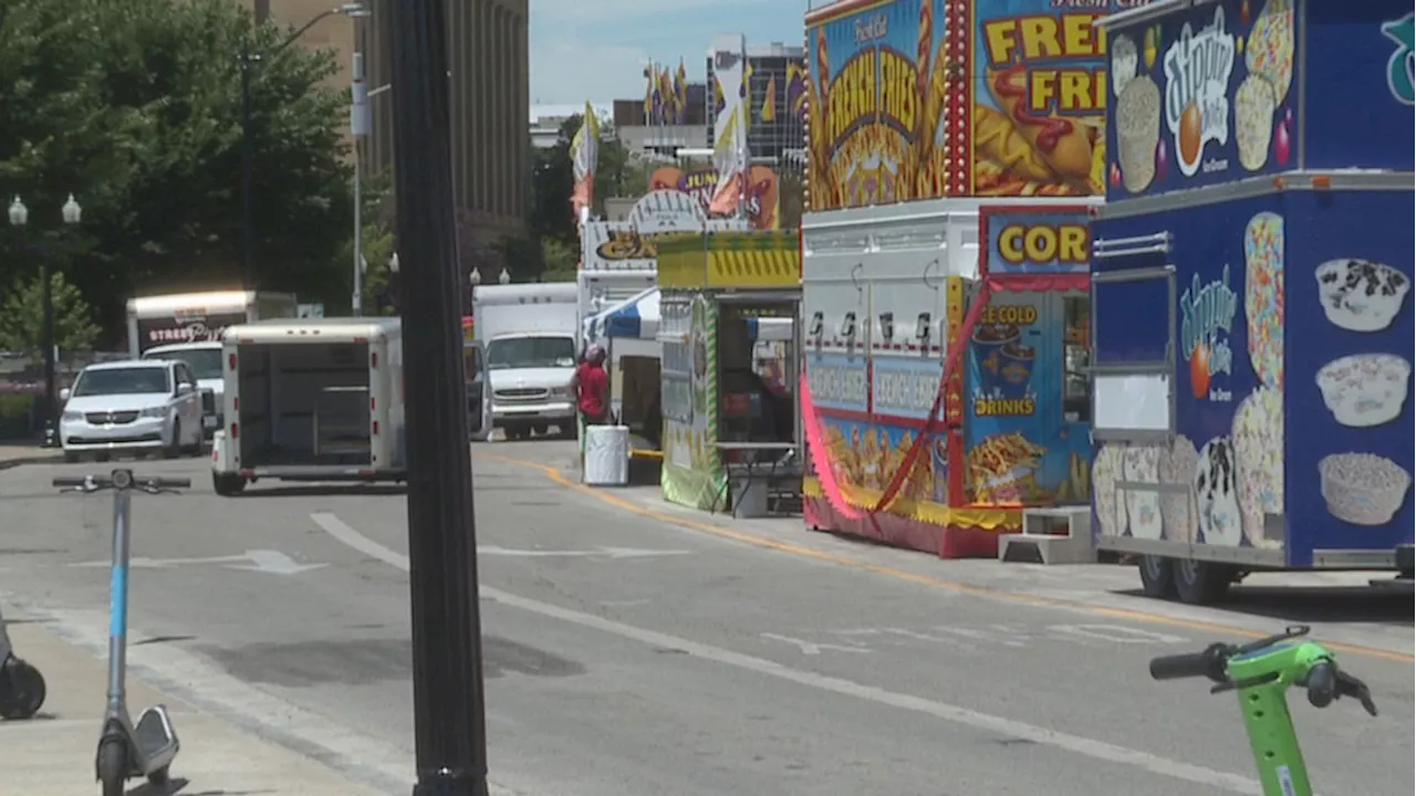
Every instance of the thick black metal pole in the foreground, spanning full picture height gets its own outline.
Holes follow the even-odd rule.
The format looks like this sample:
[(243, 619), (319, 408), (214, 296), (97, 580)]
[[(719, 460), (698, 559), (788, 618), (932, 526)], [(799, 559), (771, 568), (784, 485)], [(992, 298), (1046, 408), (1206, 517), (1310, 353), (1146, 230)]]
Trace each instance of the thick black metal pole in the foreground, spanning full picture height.
[(408, 387), (415, 796), (487, 796), (443, 0), (392, 4), (394, 187)]

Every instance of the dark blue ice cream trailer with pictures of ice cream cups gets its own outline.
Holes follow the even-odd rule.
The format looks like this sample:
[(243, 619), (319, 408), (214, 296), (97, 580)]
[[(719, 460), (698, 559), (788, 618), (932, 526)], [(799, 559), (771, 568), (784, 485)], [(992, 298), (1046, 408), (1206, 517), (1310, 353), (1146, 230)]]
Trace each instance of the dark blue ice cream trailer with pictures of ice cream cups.
[(1163, 0), (1099, 24), (1097, 547), (1192, 603), (1260, 569), (1412, 585), (1416, 4)]

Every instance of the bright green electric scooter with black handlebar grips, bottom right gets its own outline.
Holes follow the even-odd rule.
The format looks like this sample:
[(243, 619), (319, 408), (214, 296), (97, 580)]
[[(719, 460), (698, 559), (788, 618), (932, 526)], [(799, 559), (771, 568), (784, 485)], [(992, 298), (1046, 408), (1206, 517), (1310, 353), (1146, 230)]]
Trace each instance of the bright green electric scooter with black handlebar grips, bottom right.
[(1315, 708), (1352, 697), (1376, 715), (1366, 684), (1340, 670), (1331, 650), (1306, 640), (1307, 635), (1307, 626), (1296, 626), (1249, 644), (1211, 644), (1199, 653), (1151, 660), (1155, 680), (1208, 677), (1216, 683), (1211, 694), (1238, 691), (1264, 796), (1313, 796), (1289, 715), (1286, 693), (1290, 687), (1306, 687), (1308, 703)]

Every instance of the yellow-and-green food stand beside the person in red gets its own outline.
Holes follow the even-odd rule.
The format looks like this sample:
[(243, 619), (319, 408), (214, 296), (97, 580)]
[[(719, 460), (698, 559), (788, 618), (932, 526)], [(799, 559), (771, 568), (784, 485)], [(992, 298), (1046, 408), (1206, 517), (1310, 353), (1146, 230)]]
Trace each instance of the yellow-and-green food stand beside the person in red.
[(797, 506), (800, 262), (792, 232), (658, 242), (667, 500), (739, 516)]

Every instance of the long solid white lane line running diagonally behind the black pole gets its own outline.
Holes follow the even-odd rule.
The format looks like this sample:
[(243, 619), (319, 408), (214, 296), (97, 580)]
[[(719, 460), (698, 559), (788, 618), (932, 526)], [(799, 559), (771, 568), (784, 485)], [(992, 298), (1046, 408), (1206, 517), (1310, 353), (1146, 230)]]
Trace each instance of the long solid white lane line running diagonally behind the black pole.
[[(336, 540), (344, 542), (346, 545), (371, 558), (384, 561), (391, 567), (396, 567), (404, 571), (408, 569), (406, 555), (389, 550), (378, 544), (377, 541), (365, 537), (364, 534), (347, 525), (343, 520), (340, 520), (334, 514), (317, 513), (317, 514), (310, 514), (310, 518), (314, 520), (314, 523), (319, 527), (324, 528), (326, 533), (329, 533)], [(1104, 741), (1083, 738), (1080, 735), (1070, 735), (1066, 732), (1059, 732), (1056, 729), (1037, 727), (1032, 724), (1027, 724), (1011, 718), (1004, 718), (1000, 715), (991, 715), (969, 708), (961, 708), (957, 705), (950, 705), (946, 703), (939, 703), (935, 700), (926, 700), (923, 697), (886, 691), (885, 688), (878, 688), (875, 686), (865, 686), (840, 677), (828, 677), (826, 674), (817, 674), (814, 671), (803, 671), (792, 669), (789, 666), (772, 660), (735, 653), (732, 650), (725, 650), (722, 647), (715, 647), (700, 642), (691, 642), (688, 639), (670, 636), (668, 633), (658, 633), (656, 630), (646, 630), (643, 627), (634, 627), (632, 625), (622, 625), (619, 622), (612, 622), (600, 616), (595, 616), (590, 613), (581, 613), (579, 610), (571, 610), (556, 605), (517, 596), (490, 586), (481, 586), (481, 595), (511, 608), (520, 608), (531, 613), (538, 613), (541, 616), (548, 616), (551, 619), (559, 619), (562, 622), (578, 625), (581, 627), (590, 627), (593, 630), (600, 630), (612, 636), (619, 636), (622, 639), (640, 642), (651, 647), (683, 650), (687, 654), (700, 657), (702, 660), (711, 660), (714, 663), (733, 666), (746, 671), (755, 671), (758, 674), (765, 674), (767, 677), (776, 677), (779, 680), (786, 680), (789, 683), (806, 686), (809, 688), (818, 688), (821, 691), (831, 691), (835, 694), (855, 697), (860, 700), (867, 700), (888, 707), (915, 711), (944, 721), (952, 721), (954, 724), (973, 727), (976, 729), (997, 732), (1000, 735), (1007, 735), (1012, 738), (1022, 738), (1025, 741), (1032, 741), (1034, 744), (1044, 744), (1048, 746), (1054, 746), (1058, 749), (1063, 749), (1066, 752), (1073, 752), (1099, 761), (1136, 766), (1148, 771), (1151, 773), (1182, 779), (1187, 782), (1194, 782), (1197, 785), (1205, 785), (1209, 788), (1222, 788), (1233, 793), (1263, 796), (1263, 789), (1256, 780), (1235, 773), (1184, 763), (1180, 761), (1172, 761), (1170, 758), (1163, 758), (1160, 755), (1153, 755), (1150, 752), (1143, 752), (1140, 749), (1129, 749), (1126, 746), (1117, 746), (1114, 744), (1107, 744)]]

